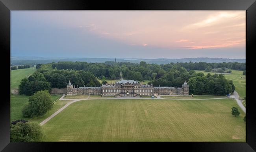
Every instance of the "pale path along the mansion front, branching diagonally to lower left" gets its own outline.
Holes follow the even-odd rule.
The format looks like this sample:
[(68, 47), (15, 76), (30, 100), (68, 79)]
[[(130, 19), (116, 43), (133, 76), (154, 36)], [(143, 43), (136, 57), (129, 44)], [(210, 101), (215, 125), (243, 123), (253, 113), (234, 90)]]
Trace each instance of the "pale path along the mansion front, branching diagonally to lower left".
[[(166, 95), (164, 95), (166, 96)], [(90, 98), (89, 96), (87, 98), (81, 98), (81, 99), (63, 99), (64, 95), (59, 98), (59, 100), (66, 100), (66, 101), (70, 101), (68, 102), (66, 105), (64, 105), (61, 109), (59, 109), (58, 111), (54, 112), (54, 114), (52, 114), (50, 117), (46, 118), (44, 121), (42, 121), (39, 125), (44, 125), (47, 121), (49, 121), (50, 119), (52, 119), (54, 116), (56, 116), (59, 112), (61, 112), (63, 109), (67, 108), (69, 105), (71, 105), (74, 102), (77, 101), (81, 101), (81, 100), (118, 100), (118, 99), (148, 99), (148, 100), (216, 100), (216, 99), (226, 99), (226, 98), (210, 98), (210, 99), (165, 99), (165, 98), (161, 98), (161, 96), (158, 96), (157, 98), (138, 98), (138, 97), (116, 97), (116, 98)]]

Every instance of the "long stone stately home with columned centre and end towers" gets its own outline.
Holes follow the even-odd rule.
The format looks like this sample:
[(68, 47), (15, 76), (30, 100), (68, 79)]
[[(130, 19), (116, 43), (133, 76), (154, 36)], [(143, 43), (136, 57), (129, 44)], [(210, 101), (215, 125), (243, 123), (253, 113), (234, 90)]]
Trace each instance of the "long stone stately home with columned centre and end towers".
[(106, 84), (101, 87), (76, 87), (71, 84), (67, 85), (67, 95), (77, 95), (77, 94), (95, 94), (102, 96), (154, 96), (156, 95), (188, 95), (189, 86), (185, 81), (181, 88), (177, 87), (154, 87), (151, 85), (143, 85), (138, 81), (134, 80), (121, 80), (115, 82), (115, 84)]

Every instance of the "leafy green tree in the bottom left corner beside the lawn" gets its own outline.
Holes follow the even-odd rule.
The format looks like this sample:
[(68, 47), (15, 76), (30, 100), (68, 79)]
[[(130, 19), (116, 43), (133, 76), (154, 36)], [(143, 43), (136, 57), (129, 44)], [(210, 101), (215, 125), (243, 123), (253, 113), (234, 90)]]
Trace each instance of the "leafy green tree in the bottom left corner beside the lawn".
[(10, 125), (10, 142), (38, 142), (42, 138), (43, 132), (37, 123), (17, 122)]

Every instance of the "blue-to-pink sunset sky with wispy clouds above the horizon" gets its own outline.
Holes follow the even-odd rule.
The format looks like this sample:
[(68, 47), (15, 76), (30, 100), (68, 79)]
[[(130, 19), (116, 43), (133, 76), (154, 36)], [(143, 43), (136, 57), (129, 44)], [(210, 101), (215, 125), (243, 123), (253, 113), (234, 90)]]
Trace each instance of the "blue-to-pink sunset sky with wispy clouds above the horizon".
[(11, 11), (11, 56), (245, 58), (246, 11)]

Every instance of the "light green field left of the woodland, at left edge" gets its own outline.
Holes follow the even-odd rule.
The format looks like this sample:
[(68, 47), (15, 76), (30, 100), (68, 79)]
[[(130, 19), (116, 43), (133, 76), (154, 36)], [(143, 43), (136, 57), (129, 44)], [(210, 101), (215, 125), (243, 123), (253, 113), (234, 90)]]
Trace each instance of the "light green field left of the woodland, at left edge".
[(11, 88), (18, 88), (20, 85), (20, 80), (22, 80), (23, 78), (27, 78), (35, 71), (35, 67), (28, 69), (11, 70)]

